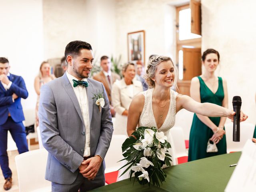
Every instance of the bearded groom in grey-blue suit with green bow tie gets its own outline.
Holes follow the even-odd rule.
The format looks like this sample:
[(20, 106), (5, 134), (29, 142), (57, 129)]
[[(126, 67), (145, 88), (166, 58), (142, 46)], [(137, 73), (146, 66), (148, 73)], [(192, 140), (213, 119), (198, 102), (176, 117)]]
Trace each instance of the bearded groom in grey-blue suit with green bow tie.
[[(72, 41), (65, 58), (67, 72), (40, 90), (40, 133), (49, 152), (45, 178), (52, 182), (52, 192), (84, 192), (105, 184), (104, 157), (113, 124), (104, 86), (88, 78), (91, 45)], [(102, 94), (101, 105), (94, 94)]]

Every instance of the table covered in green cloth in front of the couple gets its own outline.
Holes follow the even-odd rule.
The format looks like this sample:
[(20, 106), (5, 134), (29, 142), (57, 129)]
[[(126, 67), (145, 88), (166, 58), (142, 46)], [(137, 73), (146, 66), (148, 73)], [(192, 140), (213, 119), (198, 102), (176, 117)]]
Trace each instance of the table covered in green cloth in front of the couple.
[(241, 152), (218, 155), (164, 169), (166, 182), (160, 188), (142, 186), (133, 178), (96, 188), (94, 192), (223, 192), (241, 156)]

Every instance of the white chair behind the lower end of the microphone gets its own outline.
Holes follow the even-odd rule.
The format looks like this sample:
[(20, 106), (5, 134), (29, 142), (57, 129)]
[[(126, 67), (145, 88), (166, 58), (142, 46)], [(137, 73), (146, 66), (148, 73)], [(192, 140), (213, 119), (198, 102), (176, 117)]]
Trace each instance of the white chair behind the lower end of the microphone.
[(233, 123), (225, 124), (227, 153), (242, 151), (246, 141), (252, 139), (254, 132), (254, 124), (241, 122), (240, 123), (240, 142), (233, 141)]

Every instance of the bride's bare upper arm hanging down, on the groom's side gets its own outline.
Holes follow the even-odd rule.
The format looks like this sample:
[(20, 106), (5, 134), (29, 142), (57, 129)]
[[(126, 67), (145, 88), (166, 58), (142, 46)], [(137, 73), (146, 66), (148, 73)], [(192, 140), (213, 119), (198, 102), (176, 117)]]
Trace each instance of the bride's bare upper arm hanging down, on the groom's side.
[(138, 94), (132, 99), (132, 102), (128, 111), (128, 120), (127, 120), (127, 134), (131, 136), (131, 134), (136, 130), (138, 125), (140, 114), (144, 107), (144, 95)]

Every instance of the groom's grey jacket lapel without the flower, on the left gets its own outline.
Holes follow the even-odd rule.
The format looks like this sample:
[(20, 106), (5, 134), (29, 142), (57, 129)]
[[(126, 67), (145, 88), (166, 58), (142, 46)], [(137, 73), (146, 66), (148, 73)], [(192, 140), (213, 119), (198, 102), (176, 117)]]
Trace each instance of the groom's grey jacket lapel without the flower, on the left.
[(82, 122), (84, 123), (84, 119), (82, 116), (82, 112), (81, 112), (81, 108), (79, 106), (76, 94), (68, 80), (68, 77), (66, 75), (66, 73), (62, 76), (62, 80), (63, 80), (63, 84), (64, 84), (64, 89), (66, 90), (68, 96), (70, 97), (70, 100), (72, 101), (72, 103), (74, 104), (74, 107), (76, 108), (76, 111), (80, 117), (80, 119), (82, 120)]

